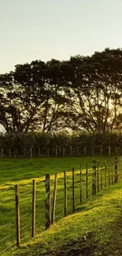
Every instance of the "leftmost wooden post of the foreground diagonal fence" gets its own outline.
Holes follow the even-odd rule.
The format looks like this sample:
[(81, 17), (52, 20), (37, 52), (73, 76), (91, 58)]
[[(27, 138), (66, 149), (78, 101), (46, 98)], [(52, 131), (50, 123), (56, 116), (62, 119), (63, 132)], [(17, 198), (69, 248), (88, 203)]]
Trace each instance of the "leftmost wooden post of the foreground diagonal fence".
[(15, 185), (16, 202), (16, 224), (17, 224), (17, 247), (20, 247), (20, 206), (19, 206), (19, 186)]

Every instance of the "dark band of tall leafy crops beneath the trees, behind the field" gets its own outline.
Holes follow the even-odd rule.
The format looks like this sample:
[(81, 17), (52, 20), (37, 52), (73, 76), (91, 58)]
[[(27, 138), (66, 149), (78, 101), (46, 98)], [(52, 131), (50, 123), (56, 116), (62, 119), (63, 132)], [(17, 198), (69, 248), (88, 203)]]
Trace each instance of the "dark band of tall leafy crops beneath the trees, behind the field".
[(121, 155), (122, 135), (117, 133), (8, 133), (0, 135), (1, 156), (62, 157)]

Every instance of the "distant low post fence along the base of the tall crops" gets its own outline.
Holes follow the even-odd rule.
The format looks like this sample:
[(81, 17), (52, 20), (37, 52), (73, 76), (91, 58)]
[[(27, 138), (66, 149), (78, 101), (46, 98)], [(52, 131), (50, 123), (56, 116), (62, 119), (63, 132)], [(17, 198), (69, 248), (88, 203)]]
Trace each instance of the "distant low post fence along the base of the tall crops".
[(104, 146), (89, 146), (89, 147), (31, 147), (17, 150), (16, 148), (1, 148), (1, 158), (40, 158), (40, 157), (80, 157), (80, 156), (120, 156), (122, 154), (121, 147), (104, 147)]

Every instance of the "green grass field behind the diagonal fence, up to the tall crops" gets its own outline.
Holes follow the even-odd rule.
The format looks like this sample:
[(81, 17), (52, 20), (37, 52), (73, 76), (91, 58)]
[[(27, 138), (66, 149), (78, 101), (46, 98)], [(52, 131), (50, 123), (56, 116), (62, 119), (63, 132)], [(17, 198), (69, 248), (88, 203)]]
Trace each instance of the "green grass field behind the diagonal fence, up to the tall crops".
[[(0, 250), (7, 255), (16, 243), (15, 191), (14, 185), (20, 186), (20, 238), (21, 244), (31, 239), (31, 180), (36, 180), (36, 235), (45, 230), (45, 174), (51, 174), (51, 206), (54, 192), (54, 173), (57, 175), (56, 218), (64, 217), (64, 174), (68, 172), (68, 214), (72, 213), (72, 167), (75, 168), (75, 204), (76, 211), (81, 210), (79, 203), (79, 166), (83, 169), (83, 204), (91, 201), (91, 167), (93, 158), (36, 158), (4, 159), (0, 161)], [(108, 158), (96, 158), (99, 165)], [(88, 199), (86, 198), (86, 163), (88, 164)], [(112, 175), (112, 169), (110, 169)], [(103, 174), (104, 180), (104, 174)], [(108, 183), (108, 174), (107, 174)], [(99, 180), (100, 185), (100, 180)], [(103, 182), (103, 187), (104, 186)], [(107, 184), (108, 185), (108, 184)], [(108, 191), (108, 188), (104, 188)], [(83, 208), (82, 208), (83, 209)], [(4, 251), (5, 250), (5, 251)]]

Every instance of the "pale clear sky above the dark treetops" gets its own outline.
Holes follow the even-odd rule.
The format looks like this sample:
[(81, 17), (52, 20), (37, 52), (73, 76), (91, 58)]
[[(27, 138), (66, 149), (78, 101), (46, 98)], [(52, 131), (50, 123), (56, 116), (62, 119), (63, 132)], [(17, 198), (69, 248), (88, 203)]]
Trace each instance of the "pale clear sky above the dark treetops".
[(0, 73), (122, 47), (122, 0), (0, 0)]

